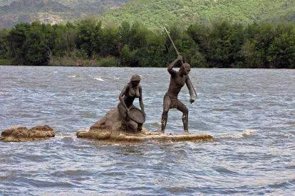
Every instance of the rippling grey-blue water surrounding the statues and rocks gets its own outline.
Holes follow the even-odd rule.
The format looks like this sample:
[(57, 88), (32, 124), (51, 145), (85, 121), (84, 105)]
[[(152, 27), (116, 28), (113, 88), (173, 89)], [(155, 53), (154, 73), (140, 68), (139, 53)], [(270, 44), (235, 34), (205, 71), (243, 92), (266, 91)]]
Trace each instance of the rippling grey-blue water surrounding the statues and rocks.
[[(160, 129), (165, 68), (0, 66), (0, 131), (48, 124), (56, 137), (0, 142), (0, 195), (295, 195), (295, 70), (192, 69), (189, 129), (213, 143), (76, 138), (143, 76), (145, 126)], [(135, 99), (138, 104), (138, 99)], [(182, 132), (169, 112), (167, 133)]]

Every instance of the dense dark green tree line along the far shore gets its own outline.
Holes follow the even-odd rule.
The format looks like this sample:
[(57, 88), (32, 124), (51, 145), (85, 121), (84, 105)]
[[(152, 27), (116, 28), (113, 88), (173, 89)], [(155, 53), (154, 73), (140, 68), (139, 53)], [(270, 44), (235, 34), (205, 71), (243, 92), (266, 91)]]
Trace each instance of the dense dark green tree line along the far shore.
[[(218, 21), (167, 29), (192, 67), (295, 67), (292, 23), (243, 26)], [(56, 25), (36, 21), (0, 31), (1, 64), (166, 67), (175, 58), (164, 29), (151, 31), (138, 22), (102, 26), (93, 18)]]

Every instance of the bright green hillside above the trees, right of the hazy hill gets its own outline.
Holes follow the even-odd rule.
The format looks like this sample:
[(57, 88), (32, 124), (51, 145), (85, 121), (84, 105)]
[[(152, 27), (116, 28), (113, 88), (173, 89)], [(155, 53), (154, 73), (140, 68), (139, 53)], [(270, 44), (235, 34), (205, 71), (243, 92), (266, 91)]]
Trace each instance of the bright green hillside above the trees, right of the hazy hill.
[(227, 20), (233, 23), (294, 21), (292, 0), (133, 0), (118, 10), (104, 13), (104, 23), (140, 21), (148, 28), (170, 23), (184, 26), (200, 21)]

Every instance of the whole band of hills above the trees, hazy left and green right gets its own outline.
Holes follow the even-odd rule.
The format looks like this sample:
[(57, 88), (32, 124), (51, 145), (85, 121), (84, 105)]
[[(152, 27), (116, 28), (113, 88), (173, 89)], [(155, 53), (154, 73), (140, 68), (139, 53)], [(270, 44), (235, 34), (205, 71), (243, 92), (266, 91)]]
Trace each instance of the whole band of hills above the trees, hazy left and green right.
[[(103, 14), (103, 15), (100, 15)], [(148, 28), (226, 19), (233, 23), (295, 21), (294, 0), (0, 0), (0, 27), (85, 16), (103, 23), (140, 21)]]

